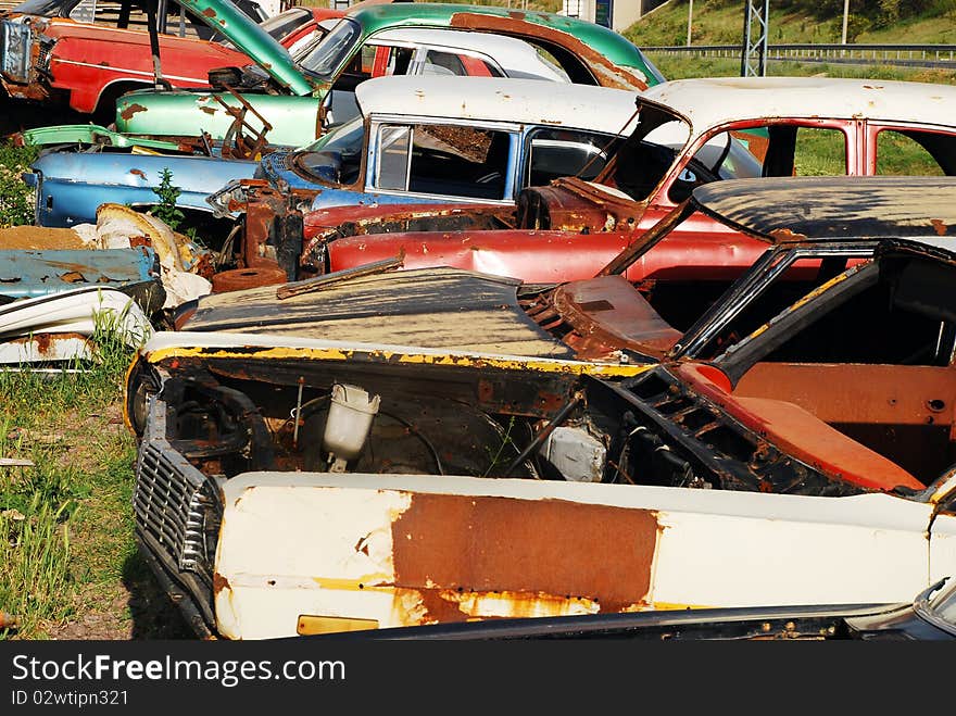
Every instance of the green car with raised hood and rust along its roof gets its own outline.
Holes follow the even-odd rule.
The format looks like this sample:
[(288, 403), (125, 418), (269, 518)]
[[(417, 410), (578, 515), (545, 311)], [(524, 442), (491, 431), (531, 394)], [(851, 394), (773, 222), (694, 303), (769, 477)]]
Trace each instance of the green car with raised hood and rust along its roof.
[[(219, 92), (141, 90), (124, 95), (116, 102), (116, 129), (121, 133), (162, 138), (207, 133), (211, 138), (231, 139), (236, 114), (246, 103), (242, 118), (247, 133), (260, 131), (265, 122), (269, 143), (306, 145), (328, 124), (329, 104), (348, 103), (349, 93), (360, 81), (412, 72), (408, 49), (382, 38), (413, 28), (523, 39), (578, 84), (642, 90), (664, 81), (641, 50), (618, 33), (548, 12), (417, 2), (372, 5), (330, 21), (334, 25), (327, 34), (293, 58), (227, 0), (183, 3), (254, 58), (257, 65), (211, 72), (211, 84), (223, 87)], [(338, 122), (336, 109), (331, 111)]]

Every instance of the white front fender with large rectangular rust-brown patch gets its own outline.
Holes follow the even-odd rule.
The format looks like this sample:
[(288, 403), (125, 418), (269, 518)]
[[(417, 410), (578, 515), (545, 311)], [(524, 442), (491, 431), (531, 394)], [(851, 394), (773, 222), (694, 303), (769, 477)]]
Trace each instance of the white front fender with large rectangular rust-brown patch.
[[(299, 615), (386, 628), (861, 603), (935, 581), (931, 506), (889, 495), (275, 473), (224, 489), (215, 605), (231, 639), (295, 636)], [(941, 519), (932, 541), (953, 541)]]

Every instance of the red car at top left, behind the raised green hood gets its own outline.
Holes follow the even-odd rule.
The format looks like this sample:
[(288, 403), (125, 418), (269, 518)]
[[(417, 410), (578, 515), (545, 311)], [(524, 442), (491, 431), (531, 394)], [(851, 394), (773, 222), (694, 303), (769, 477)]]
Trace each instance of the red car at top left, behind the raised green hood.
[[(154, 83), (146, 5), (98, 0), (27, 0), (0, 20), (0, 84), (9, 97), (70, 106), (112, 122), (116, 98)], [(158, 21), (163, 77), (175, 87), (209, 87), (210, 70), (244, 66), (248, 55), (210, 38), (212, 30), (169, 0)], [(318, 32), (340, 10), (292, 8), (262, 21), (284, 47)], [(257, 20), (257, 17), (256, 17)]]

